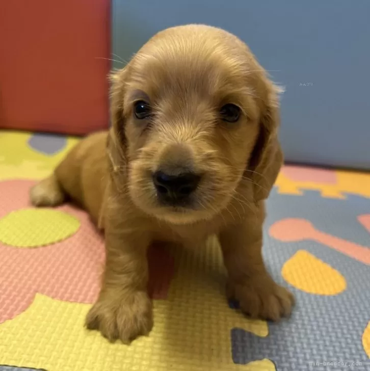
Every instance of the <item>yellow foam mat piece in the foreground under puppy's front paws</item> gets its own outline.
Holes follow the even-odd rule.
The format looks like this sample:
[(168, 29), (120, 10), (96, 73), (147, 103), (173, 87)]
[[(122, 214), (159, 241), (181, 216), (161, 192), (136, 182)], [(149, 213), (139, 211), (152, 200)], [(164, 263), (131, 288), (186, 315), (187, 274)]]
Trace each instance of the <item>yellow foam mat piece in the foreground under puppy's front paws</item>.
[(231, 329), (265, 337), (268, 325), (228, 307), (219, 249), (209, 244), (200, 251), (182, 252), (176, 260), (168, 299), (154, 301), (155, 324), (149, 337), (128, 347), (112, 345), (98, 332), (84, 329), (90, 305), (37, 294), (26, 311), (0, 324), (0, 364), (47, 371), (275, 371), (267, 359), (248, 365), (232, 362)]

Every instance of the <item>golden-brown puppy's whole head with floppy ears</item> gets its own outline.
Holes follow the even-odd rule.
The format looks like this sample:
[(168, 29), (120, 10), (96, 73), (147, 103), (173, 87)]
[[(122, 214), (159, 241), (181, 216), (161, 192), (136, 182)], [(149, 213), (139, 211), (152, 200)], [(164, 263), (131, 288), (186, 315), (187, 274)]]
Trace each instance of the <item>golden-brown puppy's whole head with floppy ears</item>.
[(277, 111), (276, 87), (240, 39), (179, 26), (113, 76), (109, 150), (122, 152), (116, 165), (146, 213), (177, 224), (210, 219), (242, 182), (250, 202), (268, 196), (281, 165)]

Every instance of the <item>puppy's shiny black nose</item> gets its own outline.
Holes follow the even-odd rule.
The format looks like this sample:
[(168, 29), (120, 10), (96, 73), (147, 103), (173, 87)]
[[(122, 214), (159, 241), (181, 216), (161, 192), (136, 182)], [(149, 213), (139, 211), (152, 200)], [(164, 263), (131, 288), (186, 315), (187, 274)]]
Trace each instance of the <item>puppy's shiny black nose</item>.
[(192, 194), (198, 187), (200, 176), (191, 172), (169, 175), (157, 171), (153, 182), (158, 196), (168, 201), (180, 201)]

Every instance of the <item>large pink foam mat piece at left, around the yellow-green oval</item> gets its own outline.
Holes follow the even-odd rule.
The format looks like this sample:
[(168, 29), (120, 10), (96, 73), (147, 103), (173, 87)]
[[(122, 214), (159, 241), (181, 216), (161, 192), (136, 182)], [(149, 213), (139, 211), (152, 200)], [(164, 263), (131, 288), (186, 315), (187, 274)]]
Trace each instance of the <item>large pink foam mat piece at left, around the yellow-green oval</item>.
[[(28, 192), (33, 181), (0, 182), (0, 218), (10, 211), (30, 207)], [(105, 258), (103, 236), (88, 215), (71, 205), (58, 208), (80, 220), (81, 227), (68, 239), (40, 248), (19, 249), (0, 242), (0, 323), (28, 308), (36, 293), (54, 299), (93, 303), (99, 292)], [(149, 292), (166, 299), (174, 274), (174, 261), (161, 247), (149, 249)]]

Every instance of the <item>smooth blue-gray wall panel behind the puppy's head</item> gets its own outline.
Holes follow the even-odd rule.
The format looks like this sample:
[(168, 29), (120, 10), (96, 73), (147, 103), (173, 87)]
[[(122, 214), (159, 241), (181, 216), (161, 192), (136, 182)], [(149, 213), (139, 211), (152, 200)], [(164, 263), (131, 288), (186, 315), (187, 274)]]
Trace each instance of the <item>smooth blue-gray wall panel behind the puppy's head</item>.
[(241, 37), (286, 87), (286, 160), (370, 169), (369, 0), (114, 0), (113, 52), (127, 61), (157, 31), (184, 23)]

